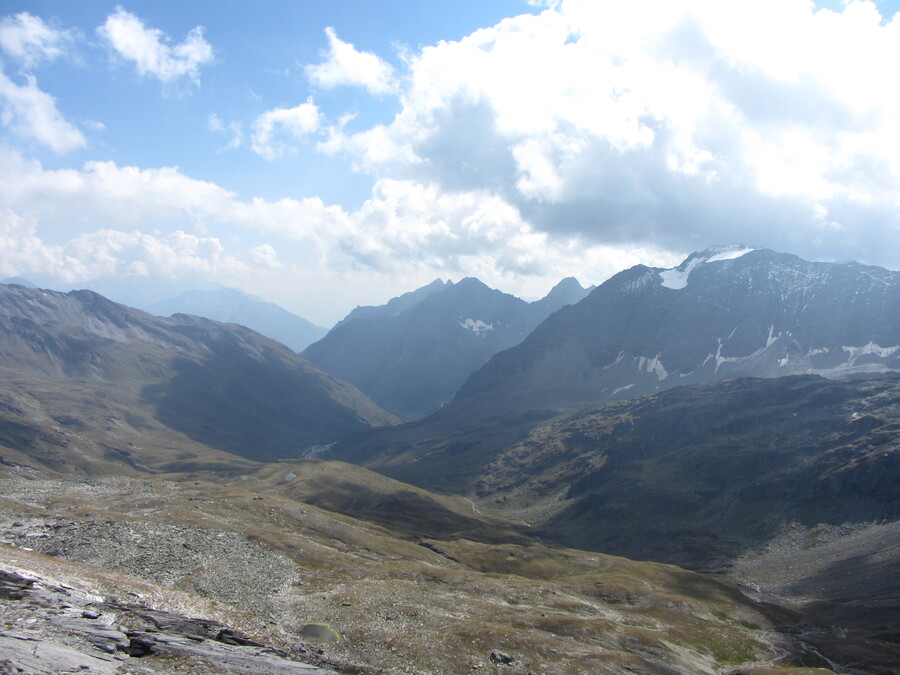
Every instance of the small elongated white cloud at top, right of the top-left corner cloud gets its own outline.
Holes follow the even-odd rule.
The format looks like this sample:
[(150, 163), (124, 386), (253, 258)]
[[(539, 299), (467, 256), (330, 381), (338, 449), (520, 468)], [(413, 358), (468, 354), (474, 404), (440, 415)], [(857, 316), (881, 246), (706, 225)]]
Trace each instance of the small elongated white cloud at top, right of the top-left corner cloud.
[(200, 66), (213, 59), (213, 49), (203, 38), (202, 26), (191, 30), (184, 42), (170, 45), (158, 28), (148, 28), (122, 7), (106, 18), (97, 33), (126, 61), (132, 61), (141, 75), (153, 75), (168, 83), (180, 78), (200, 82)]

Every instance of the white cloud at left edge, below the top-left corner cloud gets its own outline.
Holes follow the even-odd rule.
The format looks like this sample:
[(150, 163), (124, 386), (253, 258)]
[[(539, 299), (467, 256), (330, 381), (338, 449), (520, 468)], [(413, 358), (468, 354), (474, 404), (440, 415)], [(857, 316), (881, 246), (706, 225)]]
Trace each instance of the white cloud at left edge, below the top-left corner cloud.
[(86, 145), (81, 131), (57, 110), (56, 100), (38, 89), (34, 76), (27, 75), (25, 80), (26, 84), (18, 85), (0, 72), (0, 121), (3, 125), (58, 153)]

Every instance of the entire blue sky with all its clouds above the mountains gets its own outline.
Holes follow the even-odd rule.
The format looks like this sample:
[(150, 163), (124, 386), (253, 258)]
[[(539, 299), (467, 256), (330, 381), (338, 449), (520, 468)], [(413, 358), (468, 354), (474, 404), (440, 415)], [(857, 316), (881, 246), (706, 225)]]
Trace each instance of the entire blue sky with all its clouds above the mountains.
[(745, 243), (900, 268), (900, 0), (0, 0), (0, 278), (330, 326)]

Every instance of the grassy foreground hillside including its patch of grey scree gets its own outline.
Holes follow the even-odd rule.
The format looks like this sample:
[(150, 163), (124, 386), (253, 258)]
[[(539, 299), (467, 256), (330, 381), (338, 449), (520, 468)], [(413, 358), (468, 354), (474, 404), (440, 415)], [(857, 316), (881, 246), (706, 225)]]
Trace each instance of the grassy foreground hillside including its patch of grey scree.
[[(302, 476), (287, 469), (281, 482)], [(196, 477), (4, 479), (0, 564), (52, 571), (71, 586), (85, 583), (77, 565), (88, 563), (108, 570), (95, 573), (105, 593), (218, 619), (338, 672), (805, 673), (801, 664), (825, 664), (786, 630), (784, 614), (721, 580), (533, 539), (479, 543), (495, 525), (484, 537), (456, 538), (450, 526), (418, 539), (277, 489), (249, 490), (252, 478)], [(0, 632), (27, 631), (25, 621), (13, 615)], [(511, 662), (498, 666), (492, 653)], [(170, 655), (112, 663), (197, 672), (166, 670)]]

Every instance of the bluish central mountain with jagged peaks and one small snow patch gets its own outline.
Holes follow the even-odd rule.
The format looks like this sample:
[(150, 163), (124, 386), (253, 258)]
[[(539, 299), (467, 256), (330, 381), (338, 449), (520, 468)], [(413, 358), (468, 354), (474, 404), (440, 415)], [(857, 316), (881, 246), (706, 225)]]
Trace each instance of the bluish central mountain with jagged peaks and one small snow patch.
[(493, 354), (586, 293), (566, 279), (528, 303), (477, 279), (437, 280), (381, 307), (356, 308), (303, 356), (386, 410), (415, 419), (449, 401)]

